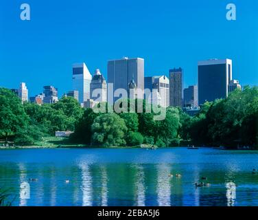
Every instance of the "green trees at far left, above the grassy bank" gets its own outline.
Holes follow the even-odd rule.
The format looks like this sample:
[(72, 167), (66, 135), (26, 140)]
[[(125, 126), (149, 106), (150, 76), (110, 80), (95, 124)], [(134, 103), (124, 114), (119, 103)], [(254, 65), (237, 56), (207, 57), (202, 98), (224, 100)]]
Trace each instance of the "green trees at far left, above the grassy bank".
[(77, 100), (62, 98), (55, 104), (21, 100), (9, 89), (0, 88), (0, 137), (18, 144), (34, 144), (55, 131), (74, 131), (83, 109)]

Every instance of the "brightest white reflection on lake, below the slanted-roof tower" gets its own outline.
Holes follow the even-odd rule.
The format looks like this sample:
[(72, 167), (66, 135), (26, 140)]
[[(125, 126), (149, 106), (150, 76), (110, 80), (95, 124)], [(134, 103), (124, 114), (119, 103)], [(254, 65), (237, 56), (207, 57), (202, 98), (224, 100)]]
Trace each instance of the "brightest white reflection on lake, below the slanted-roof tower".
[(93, 190), (89, 164), (80, 164), (79, 167), (82, 170), (82, 206), (92, 206)]

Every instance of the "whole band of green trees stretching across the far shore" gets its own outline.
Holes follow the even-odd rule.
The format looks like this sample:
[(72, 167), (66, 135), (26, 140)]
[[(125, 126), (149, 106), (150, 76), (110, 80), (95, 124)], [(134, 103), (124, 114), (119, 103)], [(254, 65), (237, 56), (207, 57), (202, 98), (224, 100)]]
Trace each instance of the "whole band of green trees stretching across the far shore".
[[(105, 104), (106, 109), (110, 108)], [(8, 89), (0, 89), (0, 135), (19, 144), (33, 144), (55, 131), (75, 131), (71, 142), (87, 146), (205, 146), (257, 147), (258, 87), (236, 90), (228, 98), (206, 102), (190, 117), (181, 109), (165, 109), (165, 120), (145, 113), (95, 113), (77, 100), (62, 98), (55, 104), (21, 104)], [(128, 108), (130, 100), (128, 100)]]

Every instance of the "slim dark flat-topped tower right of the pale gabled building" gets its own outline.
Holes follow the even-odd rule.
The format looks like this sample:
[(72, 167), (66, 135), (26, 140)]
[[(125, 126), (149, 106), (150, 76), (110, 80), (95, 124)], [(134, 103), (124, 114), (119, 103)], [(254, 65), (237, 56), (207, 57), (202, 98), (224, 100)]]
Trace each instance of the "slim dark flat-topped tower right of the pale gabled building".
[(183, 69), (169, 70), (169, 105), (182, 107), (183, 104)]

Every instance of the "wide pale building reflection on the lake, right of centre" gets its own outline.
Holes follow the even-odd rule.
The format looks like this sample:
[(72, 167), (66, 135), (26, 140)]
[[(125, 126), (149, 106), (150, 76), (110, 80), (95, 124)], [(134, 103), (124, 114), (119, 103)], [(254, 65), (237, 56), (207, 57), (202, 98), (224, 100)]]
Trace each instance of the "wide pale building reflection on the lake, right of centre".
[(159, 164), (158, 167), (158, 183), (157, 183), (157, 195), (159, 206), (170, 206), (171, 204), (171, 191), (170, 191), (170, 179), (168, 174), (170, 173), (170, 167), (167, 164)]

